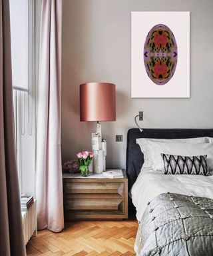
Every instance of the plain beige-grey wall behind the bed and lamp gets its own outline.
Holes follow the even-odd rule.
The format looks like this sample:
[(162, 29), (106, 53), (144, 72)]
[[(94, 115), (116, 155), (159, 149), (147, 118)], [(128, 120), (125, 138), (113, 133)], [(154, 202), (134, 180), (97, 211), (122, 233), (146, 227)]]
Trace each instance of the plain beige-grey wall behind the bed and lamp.
[[(190, 99), (131, 99), (131, 11), (190, 11)], [(63, 0), (63, 161), (91, 147), (95, 123), (79, 121), (79, 85), (89, 81), (116, 84), (116, 121), (103, 122), (108, 168), (125, 167), (126, 133), (138, 111), (142, 127), (213, 127), (212, 42), (212, 0)]]

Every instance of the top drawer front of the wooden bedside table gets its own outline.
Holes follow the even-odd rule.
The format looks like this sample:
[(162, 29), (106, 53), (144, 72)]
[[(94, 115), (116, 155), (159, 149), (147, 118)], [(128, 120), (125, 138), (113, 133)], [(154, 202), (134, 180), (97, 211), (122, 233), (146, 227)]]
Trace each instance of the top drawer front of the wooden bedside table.
[(64, 193), (124, 193), (124, 182), (65, 182)]

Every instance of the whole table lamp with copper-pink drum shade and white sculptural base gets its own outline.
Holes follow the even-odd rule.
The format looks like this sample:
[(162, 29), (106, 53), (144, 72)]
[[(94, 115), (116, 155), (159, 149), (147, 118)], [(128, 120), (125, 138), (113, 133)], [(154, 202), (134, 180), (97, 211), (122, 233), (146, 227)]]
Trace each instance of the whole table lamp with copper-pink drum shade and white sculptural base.
[(94, 152), (93, 171), (106, 170), (107, 142), (102, 138), (99, 121), (115, 121), (115, 85), (113, 83), (83, 83), (80, 85), (80, 121), (96, 121), (97, 131), (92, 133)]

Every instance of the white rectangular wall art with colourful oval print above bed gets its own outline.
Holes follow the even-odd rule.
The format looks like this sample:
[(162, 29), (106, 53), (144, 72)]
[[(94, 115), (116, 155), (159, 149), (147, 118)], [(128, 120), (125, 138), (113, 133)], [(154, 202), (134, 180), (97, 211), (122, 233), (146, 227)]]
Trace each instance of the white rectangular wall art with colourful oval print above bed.
[(190, 97), (189, 11), (132, 11), (131, 96)]

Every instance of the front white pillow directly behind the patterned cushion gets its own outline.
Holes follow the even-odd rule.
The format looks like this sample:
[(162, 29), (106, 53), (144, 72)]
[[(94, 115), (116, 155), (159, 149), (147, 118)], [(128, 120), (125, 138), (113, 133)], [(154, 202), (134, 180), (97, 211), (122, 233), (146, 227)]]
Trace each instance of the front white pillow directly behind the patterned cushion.
[(207, 165), (211, 170), (213, 169), (213, 143), (182, 143), (175, 142), (149, 142), (151, 151), (152, 169), (155, 171), (164, 170), (164, 162), (161, 153), (169, 155), (183, 155), (183, 156), (196, 156), (207, 155)]

